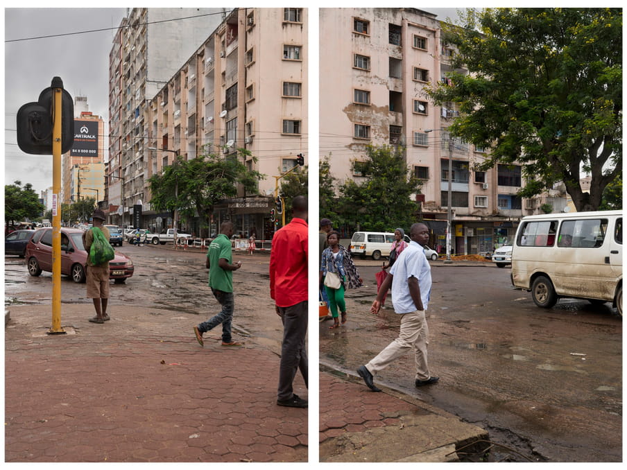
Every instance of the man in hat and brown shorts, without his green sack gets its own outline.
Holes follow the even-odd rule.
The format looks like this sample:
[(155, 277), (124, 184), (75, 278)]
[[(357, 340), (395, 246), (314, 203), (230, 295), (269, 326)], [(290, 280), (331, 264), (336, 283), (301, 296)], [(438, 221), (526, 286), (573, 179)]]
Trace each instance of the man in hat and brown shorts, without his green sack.
[[(109, 230), (103, 225), (106, 220), (105, 213), (101, 209), (96, 209), (92, 214), (92, 225), (101, 229), (103, 235), (108, 240)], [(83, 245), (87, 251), (87, 272), (85, 273), (85, 283), (87, 284), (87, 297), (94, 300), (96, 316), (89, 318), (92, 323), (104, 323), (110, 320), (107, 315), (107, 304), (109, 301), (109, 261), (94, 265), (89, 257), (89, 248), (94, 243), (94, 232), (92, 229), (83, 232)]]

